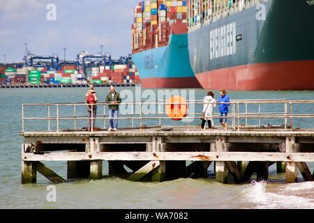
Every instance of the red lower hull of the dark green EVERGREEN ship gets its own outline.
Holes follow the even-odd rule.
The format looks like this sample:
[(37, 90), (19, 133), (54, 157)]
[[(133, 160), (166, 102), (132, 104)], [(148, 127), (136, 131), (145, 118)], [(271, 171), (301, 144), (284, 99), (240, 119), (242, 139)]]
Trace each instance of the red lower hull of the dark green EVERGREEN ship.
[(195, 75), (204, 89), (314, 90), (314, 61), (255, 63)]

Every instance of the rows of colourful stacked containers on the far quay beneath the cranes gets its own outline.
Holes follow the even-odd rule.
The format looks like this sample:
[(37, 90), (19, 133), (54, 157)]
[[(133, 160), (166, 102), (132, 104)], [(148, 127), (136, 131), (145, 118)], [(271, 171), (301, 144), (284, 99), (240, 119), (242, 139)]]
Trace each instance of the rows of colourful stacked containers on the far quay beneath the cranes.
[[(133, 64), (89, 68), (87, 76), (96, 84), (139, 84), (140, 76)], [(77, 84), (84, 81), (76, 66), (63, 66), (61, 70), (47, 68), (0, 68), (0, 84)]]

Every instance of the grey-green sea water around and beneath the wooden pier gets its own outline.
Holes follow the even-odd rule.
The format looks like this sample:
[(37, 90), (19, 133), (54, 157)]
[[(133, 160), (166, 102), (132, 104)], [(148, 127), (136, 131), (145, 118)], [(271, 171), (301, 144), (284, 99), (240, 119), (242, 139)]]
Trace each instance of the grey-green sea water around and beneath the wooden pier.
[[(126, 88), (117, 88), (117, 91), (124, 89)], [(128, 90), (135, 91), (133, 88)], [(37, 184), (21, 184), (23, 138), (19, 133), (22, 130), (22, 104), (83, 102), (86, 91), (84, 88), (0, 89), (0, 208), (314, 208), (314, 182), (304, 182), (299, 173), (300, 183), (285, 184), (285, 175), (276, 174), (275, 165), (269, 168), (267, 182), (255, 182), (256, 176), (253, 175), (252, 182), (240, 185), (217, 183), (210, 177), (179, 178), (162, 183), (130, 182), (117, 177), (105, 177), (101, 180), (86, 179), (54, 184), (57, 201), (48, 202), (47, 186), (52, 185), (49, 180), (38, 174)], [(97, 88), (96, 91), (100, 102), (103, 102), (108, 89)], [(195, 90), (194, 93), (195, 100), (202, 100), (207, 91)], [(214, 93), (217, 98), (218, 92)], [(313, 91), (230, 91), (228, 95), (234, 100), (313, 99)], [(262, 109), (272, 110), (271, 106)], [(300, 105), (295, 107), (294, 112), (309, 114), (313, 110), (314, 105)], [(33, 111), (36, 112), (38, 111)], [(262, 124), (274, 121), (262, 121)], [(278, 125), (282, 123), (283, 120), (278, 120)], [(77, 125), (82, 128), (85, 124), (86, 121), (82, 121)], [(123, 124), (121, 122), (121, 127)], [(195, 119), (193, 124), (200, 124), (200, 120)], [(47, 121), (31, 125), (35, 125), (33, 128), (47, 128)], [(103, 122), (97, 121), (96, 125), (103, 125)], [(71, 127), (70, 123), (61, 123), (61, 128)], [(294, 120), (294, 127), (314, 128), (314, 119)], [(103, 163), (103, 175), (106, 175), (107, 162)], [(45, 164), (66, 178), (66, 162)], [(308, 163), (308, 166), (313, 172), (313, 163)], [(209, 175), (213, 171), (211, 164)]]

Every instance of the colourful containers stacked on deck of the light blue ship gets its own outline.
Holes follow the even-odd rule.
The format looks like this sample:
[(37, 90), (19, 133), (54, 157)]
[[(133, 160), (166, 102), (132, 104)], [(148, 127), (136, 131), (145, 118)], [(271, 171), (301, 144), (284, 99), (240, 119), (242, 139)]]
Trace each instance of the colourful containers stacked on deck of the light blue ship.
[(132, 53), (166, 46), (172, 24), (187, 23), (187, 1), (145, 0), (134, 8)]

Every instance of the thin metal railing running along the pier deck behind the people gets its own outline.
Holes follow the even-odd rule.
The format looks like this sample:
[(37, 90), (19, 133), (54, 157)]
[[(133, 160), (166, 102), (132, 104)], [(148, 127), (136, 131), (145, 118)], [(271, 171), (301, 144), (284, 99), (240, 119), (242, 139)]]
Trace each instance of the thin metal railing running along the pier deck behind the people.
[[(187, 130), (190, 130), (190, 123), (195, 121), (195, 119), (200, 120), (202, 118), (202, 109), (204, 105), (207, 104), (215, 104), (218, 105), (219, 103), (203, 103), (202, 100), (191, 100), (187, 101), (186, 104), (183, 102), (174, 102), (169, 103), (165, 101), (154, 101), (154, 102), (122, 102), (119, 104), (121, 107), (130, 107), (130, 111), (128, 112), (121, 112), (118, 118), (110, 118), (106, 115), (107, 106), (112, 104), (107, 103), (98, 103), (98, 107), (103, 108), (103, 114), (98, 114), (96, 117), (89, 118), (87, 116), (87, 104), (84, 103), (68, 103), (68, 104), (23, 104), (22, 105), (22, 132), (25, 132), (27, 121), (47, 121), (47, 131), (52, 131), (51, 122), (56, 121), (56, 131), (60, 131), (60, 122), (61, 121), (73, 121), (71, 126), (67, 126), (68, 129), (73, 128), (73, 130), (77, 130), (77, 122), (78, 121), (91, 121), (91, 131), (94, 131), (94, 120), (102, 120), (103, 121), (103, 128), (106, 128), (106, 121), (110, 119), (117, 119), (130, 121), (130, 124), (124, 123), (123, 128), (138, 128), (142, 130), (144, 128), (143, 121), (158, 121), (158, 126), (163, 124), (163, 121), (167, 121), (167, 125), (169, 125), (170, 121), (172, 120), (165, 112), (166, 105), (188, 105), (187, 112), (184, 116), (179, 116), (177, 118), (181, 118), (183, 122), (174, 122), (175, 125), (187, 125)], [(223, 103), (220, 103), (223, 104)], [(308, 104), (313, 105), (313, 108), (309, 109), (314, 111), (314, 100), (283, 100), (283, 99), (272, 99), (272, 100), (231, 100), (230, 101), (230, 113), (228, 113), (227, 118), (231, 120), (231, 128), (233, 130), (240, 130), (242, 127), (249, 127), (253, 125), (249, 125), (251, 120), (257, 120), (258, 125), (254, 125), (255, 127), (261, 126), (261, 122), (263, 119), (271, 119), (276, 118), (283, 121), (283, 128), (289, 128), (291, 131), (293, 130), (294, 125), (294, 118), (314, 118), (314, 113), (312, 114), (301, 114), (301, 113), (294, 113), (294, 107), (296, 105), (301, 104)], [(147, 106), (155, 107), (156, 112), (148, 112), (143, 107)], [(257, 108), (256, 108), (257, 105)], [(269, 111), (269, 107), (271, 105), (276, 105), (277, 109), (280, 111)], [(262, 111), (262, 106), (267, 106), (266, 111)], [(27, 116), (26, 112), (30, 110), (30, 107), (33, 108), (33, 113), (41, 113), (41, 116)], [(39, 107), (46, 107), (46, 109), (40, 109)], [(85, 107), (85, 109), (84, 109)], [(253, 112), (248, 112), (249, 109)], [(36, 109), (34, 109), (36, 108)], [(54, 108), (54, 109), (52, 109)], [(66, 112), (61, 112), (61, 109), (66, 108)], [(71, 108), (72, 110), (70, 110)], [(190, 111), (190, 108), (194, 108), (195, 111)], [(86, 113), (79, 115), (77, 114), (77, 110), (81, 109)], [(91, 109), (94, 109), (91, 107)], [(121, 109), (120, 109), (121, 110)], [(218, 111), (218, 108), (214, 108), (215, 111)], [(241, 111), (244, 110), (244, 111)], [(47, 111), (47, 113), (45, 112)], [(53, 112), (52, 112), (53, 111)], [(73, 111), (73, 113), (72, 113)], [(98, 109), (99, 111), (99, 109)], [(54, 113), (54, 115), (52, 115)], [(70, 114), (70, 115), (66, 115)], [(93, 111), (91, 111), (93, 114)], [(44, 115), (44, 116), (43, 116)], [(204, 118), (212, 118), (220, 119), (223, 118), (220, 116), (220, 113), (215, 112), (212, 117), (204, 117)], [(139, 123), (138, 127), (135, 127), (135, 121)], [(241, 121), (244, 121), (244, 124), (241, 124)], [(313, 122), (314, 123), (314, 122)], [(273, 125), (273, 124), (271, 124)], [(313, 124), (314, 125), (314, 124)], [(39, 126), (39, 125), (38, 125)], [(253, 127), (254, 127), (253, 126)]]

